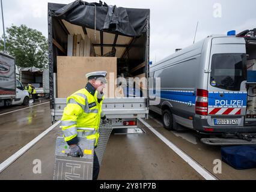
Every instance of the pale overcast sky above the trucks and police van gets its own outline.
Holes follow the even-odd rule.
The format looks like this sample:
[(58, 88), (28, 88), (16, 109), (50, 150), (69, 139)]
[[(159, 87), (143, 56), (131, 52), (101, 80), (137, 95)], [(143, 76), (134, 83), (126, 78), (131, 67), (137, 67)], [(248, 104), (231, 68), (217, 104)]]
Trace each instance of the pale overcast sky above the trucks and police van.
[[(103, 1), (103, 0), (102, 0)], [(69, 4), (72, 0), (2, 0), (5, 28), (25, 24), (47, 37), (47, 2)], [(95, 2), (94, 0), (88, 2)], [(104, 1), (103, 1), (104, 2)], [(159, 61), (211, 34), (227, 34), (256, 28), (256, 1), (231, 0), (108, 0), (108, 5), (151, 10), (151, 61)], [(1, 17), (0, 17), (1, 18)], [(2, 25), (0, 27), (2, 34)]]

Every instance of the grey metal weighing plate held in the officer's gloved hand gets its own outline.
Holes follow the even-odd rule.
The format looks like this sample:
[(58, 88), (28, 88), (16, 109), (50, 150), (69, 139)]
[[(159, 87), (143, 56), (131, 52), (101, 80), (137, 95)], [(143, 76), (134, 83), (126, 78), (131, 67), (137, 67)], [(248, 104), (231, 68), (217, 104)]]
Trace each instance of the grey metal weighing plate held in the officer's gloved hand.
[(84, 157), (68, 157), (70, 149), (64, 138), (56, 139), (53, 180), (93, 179), (94, 140), (79, 137), (78, 145), (84, 152)]

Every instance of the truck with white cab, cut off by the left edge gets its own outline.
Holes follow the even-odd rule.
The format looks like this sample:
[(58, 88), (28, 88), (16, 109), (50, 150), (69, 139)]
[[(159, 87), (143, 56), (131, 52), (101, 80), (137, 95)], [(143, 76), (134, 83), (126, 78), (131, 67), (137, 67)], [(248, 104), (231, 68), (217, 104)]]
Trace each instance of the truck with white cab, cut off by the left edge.
[(16, 77), (15, 58), (7, 53), (0, 53), (0, 106), (29, 104), (28, 91)]

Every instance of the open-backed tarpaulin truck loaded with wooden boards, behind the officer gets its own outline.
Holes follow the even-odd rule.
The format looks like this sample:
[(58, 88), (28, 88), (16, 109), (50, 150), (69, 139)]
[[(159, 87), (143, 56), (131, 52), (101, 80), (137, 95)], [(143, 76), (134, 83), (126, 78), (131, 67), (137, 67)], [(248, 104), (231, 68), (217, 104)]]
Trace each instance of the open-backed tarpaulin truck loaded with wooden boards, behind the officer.
[[(69, 97), (68, 94), (61, 95), (60, 92), (64, 89), (78, 91), (73, 86), (80, 83), (85, 76), (85, 74), (79, 75), (79, 80), (73, 83), (73, 79), (81, 72), (79, 70), (82, 70), (78, 68), (76, 73), (72, 72), (79, 59), (81, 61), (85, 59), (84, 61), (89, 62), (91, 68), (96, 65), (106, 68), (108, 63), (91, 63), (90, 65), (90, 61), (97, 58), (105, 58), (106, 61), (107, 58), (116, 58), (115, 79), (117, 77), (148, 78), (150, 10), (116, 7), (102, 2), (75, 1), (68, 5), (49, 3), (48, 27), (52, 121), (61, 119), (67, 97)], [(78, 38), (81, 41), (78, 42)], [(81, 45), (84, 47), (82, 51)], [(70, 61), (70, 64), (66, 65), (70, 68), (66, 75), (62, 73), (65, 68), (61, 68), (61, 64), (58, 65), (60, 61)], [(90, 67), (88, 68), (90, 70)], [(68, 78), (70, 79), (67, 81), (69, 85), (61, 85)], [(70, 86), (70, 83), (73, 83), (73, 86)], [(117, 88), (117, 84), (121, 85), (121, 83), (116, 83), (114, 89)], [(85, 81), (82, 81), (79, 88), (84, 88), (85, 85)], [(129, 83), (122, 85), (125, 90), (128, 90), (127, 86)], [(147, 85), (144, 86), (144, 95), (132, 93), (130, 97), (105, 98), (102, 109), (113, 128), (136, 128), (138, 118), (147, 118), (149, 100), (146, 87)], [(126, 93), (126, 95), (129, 94)]]

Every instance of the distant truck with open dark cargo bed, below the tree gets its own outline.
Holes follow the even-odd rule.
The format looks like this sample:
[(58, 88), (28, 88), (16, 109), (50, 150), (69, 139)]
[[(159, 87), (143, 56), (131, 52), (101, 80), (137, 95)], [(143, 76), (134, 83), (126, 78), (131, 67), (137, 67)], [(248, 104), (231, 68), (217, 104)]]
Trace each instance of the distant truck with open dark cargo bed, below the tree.
[(49, 98), (49, 70), (36, 67), (20, 68), (20, 80), (25, 86), (34, 85), (37, 98)]

